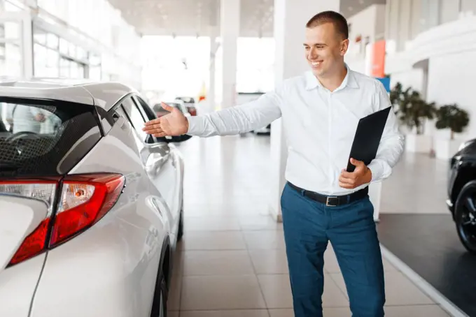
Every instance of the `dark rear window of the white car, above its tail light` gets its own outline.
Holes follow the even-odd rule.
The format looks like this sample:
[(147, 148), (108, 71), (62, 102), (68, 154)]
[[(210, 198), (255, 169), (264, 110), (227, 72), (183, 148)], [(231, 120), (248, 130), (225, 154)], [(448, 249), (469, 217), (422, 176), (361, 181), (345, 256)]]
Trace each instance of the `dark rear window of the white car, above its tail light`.
[(101, 138), (94, 107), (0, 96), (0, 177), (64, 175)]

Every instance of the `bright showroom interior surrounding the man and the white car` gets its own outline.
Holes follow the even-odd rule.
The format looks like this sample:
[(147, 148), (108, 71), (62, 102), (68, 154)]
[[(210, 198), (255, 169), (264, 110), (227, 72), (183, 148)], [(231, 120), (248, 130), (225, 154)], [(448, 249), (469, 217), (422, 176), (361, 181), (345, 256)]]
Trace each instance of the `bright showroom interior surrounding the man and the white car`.
[[(384, 84), (405, 137), (391, 177), (369, 186), (386, 316), (476, 316), (476, 0), (0, 0), (0, 83), (121, 82), (207, 115), (307, 71), (304, 26), (323, 10), (346, 17), (346, 64)], [(176, 147), (183, 239), (167, 316), (294, 316), (281, 120)], [(324, 316), (351, 316), (332, 246), (324, 258)]]

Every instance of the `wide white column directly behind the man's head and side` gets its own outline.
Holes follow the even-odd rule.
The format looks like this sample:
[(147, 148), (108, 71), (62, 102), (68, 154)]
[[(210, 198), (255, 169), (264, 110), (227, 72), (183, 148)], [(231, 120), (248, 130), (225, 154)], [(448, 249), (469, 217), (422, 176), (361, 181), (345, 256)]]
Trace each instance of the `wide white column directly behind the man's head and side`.
[[(309, 66), (304, 57), (304, 34), (311, 17), (325, 10), (339, 11), (339, 0), (274, 0), (274, 40), (276, 42), (275, 82), (300, 75)], [(271, 126), (271, 195), (269, 209), (281, 221), (281, 193), (286, 183), (286, 140), (281, 119)]]

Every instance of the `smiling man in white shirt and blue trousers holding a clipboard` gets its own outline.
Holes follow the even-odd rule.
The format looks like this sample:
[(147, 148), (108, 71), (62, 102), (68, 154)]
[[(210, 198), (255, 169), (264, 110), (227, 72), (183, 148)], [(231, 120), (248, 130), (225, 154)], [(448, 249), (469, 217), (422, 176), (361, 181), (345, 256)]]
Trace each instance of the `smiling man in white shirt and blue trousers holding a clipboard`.
[(347, 22), (325, 11), (309, 20), (305, 57), (311, 71), (285, 80), (257, 101), (186, 119), (171, 113), (146, 123), (144, 131), (165, 135), (232, 135), (282, 117), (288, 144), (286, 184), (281, 196), (284, 238), (296, 317), (322, 315), (323, 253), (332, 244), (346, 283), (353, 316), (384, 316), (384, 270), (367, 186), (391, 175), (402, 138), (390, 112), (377, 158), (368, 166), (352, 159), (358, 120), (389, 107), (383, 85), (344, 64)]

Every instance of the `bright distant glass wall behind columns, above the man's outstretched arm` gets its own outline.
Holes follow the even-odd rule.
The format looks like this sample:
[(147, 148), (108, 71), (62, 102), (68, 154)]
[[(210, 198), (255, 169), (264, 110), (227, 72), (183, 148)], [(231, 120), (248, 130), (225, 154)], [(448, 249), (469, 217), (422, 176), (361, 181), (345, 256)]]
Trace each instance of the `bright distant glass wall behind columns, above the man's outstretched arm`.
[[(208, 86), (210, 38), (144, 36), (141, 45), (143, 87), (148, 96), (167, 100), (197, 97)], [(274, 87), (274, 38), (239, 38), (237, 92), (269, 91)], [(216, 100), (221, 100), (222, 50), (215, 56)]]

